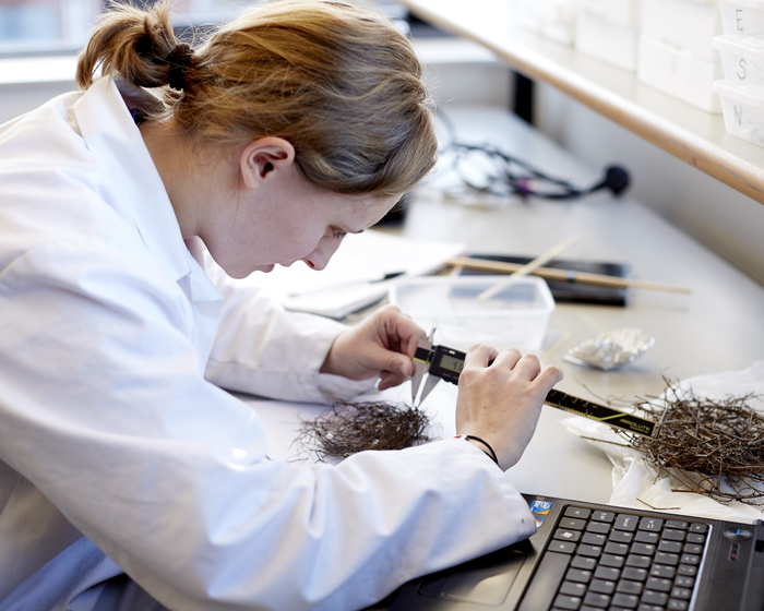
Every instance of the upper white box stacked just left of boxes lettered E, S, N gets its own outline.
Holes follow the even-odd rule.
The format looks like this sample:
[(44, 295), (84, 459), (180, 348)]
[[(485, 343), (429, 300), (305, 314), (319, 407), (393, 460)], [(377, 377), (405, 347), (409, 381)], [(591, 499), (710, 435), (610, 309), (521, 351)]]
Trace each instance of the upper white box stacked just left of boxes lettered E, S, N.
[(643, 0), (641, 34), (689, 51), (699, 59), (714, 59), (714, 36), (721, 34), (716, 2), (704, 0)]

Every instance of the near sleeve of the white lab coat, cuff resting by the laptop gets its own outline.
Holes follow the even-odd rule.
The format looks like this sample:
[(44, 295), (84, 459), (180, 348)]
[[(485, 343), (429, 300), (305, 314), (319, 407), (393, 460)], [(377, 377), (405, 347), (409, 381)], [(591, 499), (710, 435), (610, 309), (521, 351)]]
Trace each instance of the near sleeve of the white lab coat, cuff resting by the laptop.
[(533, 532), (459, 440), (268, 460), (256, 415), (200, 373), (172, 284), (76, 243), (0, 274), (0, 457), (168, 608), (359, 609)]

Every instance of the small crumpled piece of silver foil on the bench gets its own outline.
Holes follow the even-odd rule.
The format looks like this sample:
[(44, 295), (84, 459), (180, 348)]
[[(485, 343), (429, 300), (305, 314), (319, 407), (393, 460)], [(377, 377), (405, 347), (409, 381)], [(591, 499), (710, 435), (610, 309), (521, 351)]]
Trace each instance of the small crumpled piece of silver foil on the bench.
[(609, 371), (634, 362), (653, 344), (655, 337), (638, 328), (616, 328), (572, 348), (565, 360)]

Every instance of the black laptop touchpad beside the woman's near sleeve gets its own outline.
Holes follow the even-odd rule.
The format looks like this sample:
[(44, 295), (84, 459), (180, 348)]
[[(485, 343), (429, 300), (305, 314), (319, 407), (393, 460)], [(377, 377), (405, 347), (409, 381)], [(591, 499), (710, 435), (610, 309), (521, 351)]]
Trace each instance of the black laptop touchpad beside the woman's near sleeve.
[(506, 598), (517, 572), (525, 561), (522, 549), (503, 550), (501, 558), (488, 563), (485, 559), (467, 563), (457, 572), (425, 579), (419, 595), (486, 606), (499, 606)]

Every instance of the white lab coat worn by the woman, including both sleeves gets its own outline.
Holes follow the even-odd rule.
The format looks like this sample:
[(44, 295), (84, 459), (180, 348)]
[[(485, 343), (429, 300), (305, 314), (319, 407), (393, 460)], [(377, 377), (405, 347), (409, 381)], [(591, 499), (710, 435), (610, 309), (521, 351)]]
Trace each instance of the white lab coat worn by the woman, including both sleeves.
[(0, 609), (83, 535), (171, 609), (338, 611), (533, 532), (463, 441), (267, 459), (220, 386), (350, 396), (343, 327), (205, 274), (120, 88), (0, 127)]

